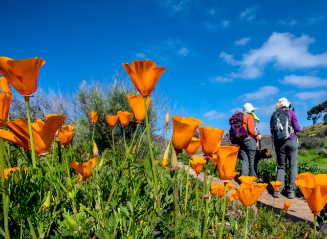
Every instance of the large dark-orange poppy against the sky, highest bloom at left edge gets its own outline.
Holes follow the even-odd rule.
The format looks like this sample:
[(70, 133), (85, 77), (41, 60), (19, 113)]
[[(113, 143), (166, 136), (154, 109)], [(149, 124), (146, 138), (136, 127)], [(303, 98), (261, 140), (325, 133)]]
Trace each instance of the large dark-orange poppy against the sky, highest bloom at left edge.
[(22, 95), (31, 95), (36, 91), (39, 71), (45, 61), (42, 58), (13, 60), (0, 57), (0, 74)]

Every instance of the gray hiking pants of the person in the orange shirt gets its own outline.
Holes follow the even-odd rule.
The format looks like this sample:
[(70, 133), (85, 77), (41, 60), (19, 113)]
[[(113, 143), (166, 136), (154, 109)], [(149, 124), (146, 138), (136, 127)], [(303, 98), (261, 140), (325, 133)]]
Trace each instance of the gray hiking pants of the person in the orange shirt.
[[(243, 140), (240, 144), (240, 157), (242, 159), (241, 175), (242, 176), (256, 176), (257, 172), (254, 170), (254, 158), (256, 157), (256, 140), (249, 138)], [(259, 179), (258, 179), (259, 180)]]

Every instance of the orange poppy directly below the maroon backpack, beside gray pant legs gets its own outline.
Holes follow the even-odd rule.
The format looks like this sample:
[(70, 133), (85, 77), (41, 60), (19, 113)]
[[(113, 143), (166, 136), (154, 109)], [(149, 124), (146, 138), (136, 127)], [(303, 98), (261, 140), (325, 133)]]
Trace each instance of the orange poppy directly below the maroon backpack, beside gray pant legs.
[(237, 155), (240, 147), (233, 145), (220, 146), (217, 151), (217, 169), (221, 180), (232, 180), (235, 172)]

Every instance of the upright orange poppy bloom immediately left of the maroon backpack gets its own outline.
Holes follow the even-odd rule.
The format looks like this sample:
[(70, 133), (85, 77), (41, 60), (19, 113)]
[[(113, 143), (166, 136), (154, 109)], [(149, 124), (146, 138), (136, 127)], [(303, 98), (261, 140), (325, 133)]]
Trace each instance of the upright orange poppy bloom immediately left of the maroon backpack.
[(203, 126), (199, 129), (200, 141), (204, 157), (212, 157), (216, 153), (225, 130), (219, 130), (211, 126)]

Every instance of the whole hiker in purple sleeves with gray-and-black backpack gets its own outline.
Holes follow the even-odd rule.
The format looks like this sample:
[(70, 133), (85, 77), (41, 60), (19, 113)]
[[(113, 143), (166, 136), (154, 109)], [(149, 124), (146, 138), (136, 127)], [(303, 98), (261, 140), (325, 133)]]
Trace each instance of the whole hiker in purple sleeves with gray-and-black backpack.
[(281, 98), (276, 104), (276, 111), (270, 118), (270, 128), (277, 155), (277, 181), (283, 182), (274, 197), (279, 197), (285, 186), (286, 163), (289, 163), (289, 188), (287, 197), (295, 197), (295, 180), (298, 174), (298, 141), (295, 132), (300, 132), (301, 126), (294, 110), (290, 110), (291, 103)]

